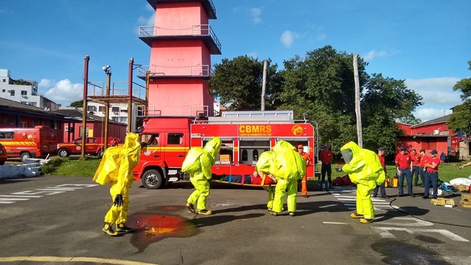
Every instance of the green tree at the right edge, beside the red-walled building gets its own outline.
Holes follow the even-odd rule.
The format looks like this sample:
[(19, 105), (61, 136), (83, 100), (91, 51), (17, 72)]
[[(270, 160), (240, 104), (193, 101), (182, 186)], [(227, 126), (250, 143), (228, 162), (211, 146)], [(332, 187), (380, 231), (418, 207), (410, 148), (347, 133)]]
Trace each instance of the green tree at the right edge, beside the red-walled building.
[[(468, 61), (471, 70), (471, 61)], [(453, 86), (453, 91), (461, 91), (461, 99), (463, 104), (453, 107), (453, 113), (446, 123), (448, 128), (453, 132), (461, 131), (461, 133), (471, 134), (471, 78), (465, 78), (458, 81)]]

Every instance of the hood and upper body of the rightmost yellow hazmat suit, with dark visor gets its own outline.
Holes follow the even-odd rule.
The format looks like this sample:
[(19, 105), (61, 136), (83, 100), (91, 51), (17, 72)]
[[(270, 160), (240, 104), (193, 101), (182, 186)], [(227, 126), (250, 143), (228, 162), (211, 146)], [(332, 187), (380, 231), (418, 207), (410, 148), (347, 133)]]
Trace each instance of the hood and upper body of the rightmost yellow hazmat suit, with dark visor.
[(353, 183), (367, 185), (373, 189), (376, 185), (381, 185), (384, 182), (386, 177), (384, 169), (378, 155), (373, 151), (363, 149), (354, 142), (349, 142), (340, 148), (340, 153), (346, 154), (346, 156), (351, 154), (350, 161), (342, 166), (342, 171), (349, 174)]

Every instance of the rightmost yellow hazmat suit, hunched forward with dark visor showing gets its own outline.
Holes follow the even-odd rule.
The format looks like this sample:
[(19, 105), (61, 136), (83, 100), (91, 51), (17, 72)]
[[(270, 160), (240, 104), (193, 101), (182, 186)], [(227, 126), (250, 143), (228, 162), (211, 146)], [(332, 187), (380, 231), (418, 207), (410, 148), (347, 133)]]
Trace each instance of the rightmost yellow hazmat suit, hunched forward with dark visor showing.
[(363, 217), (366, 220), (362, 219), (362, 222), (370, 222), (374, 218), (371, 190), (376, 185), (381, 185), (386, 177), (381, 162), (376, 153), (363, 149), (354, 142), (342, 146), (340, 153), (346, 163), (342, 166), (342, 171), (357, 185), (357, 214), (352, 213), (351, 216)]

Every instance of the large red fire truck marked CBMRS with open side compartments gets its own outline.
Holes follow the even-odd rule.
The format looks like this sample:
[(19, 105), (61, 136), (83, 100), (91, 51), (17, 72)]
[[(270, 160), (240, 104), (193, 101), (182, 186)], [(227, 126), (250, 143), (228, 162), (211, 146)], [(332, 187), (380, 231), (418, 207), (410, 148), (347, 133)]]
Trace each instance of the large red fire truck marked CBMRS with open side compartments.
[[(317, 154), (317, 129), (314, 131), (307, 120), (293, 120), (292, 111), (225, 111), (221, 117), (158, 116), (145, 119), (138, 132), (142, 151), (132, 173), (149, 189), (188, 180), (189, 176), (181, 172), (186, 153), (191, 147), (203, 147), (211, 136), (222, 140), (212, 167), (216, 176), (252, 174), (259, 155), (271, 150), (277, 140), (304, 145), (312, 158)], [(307, 177), (314, 178), (315, 172), (315, 165), (308, 166)]]

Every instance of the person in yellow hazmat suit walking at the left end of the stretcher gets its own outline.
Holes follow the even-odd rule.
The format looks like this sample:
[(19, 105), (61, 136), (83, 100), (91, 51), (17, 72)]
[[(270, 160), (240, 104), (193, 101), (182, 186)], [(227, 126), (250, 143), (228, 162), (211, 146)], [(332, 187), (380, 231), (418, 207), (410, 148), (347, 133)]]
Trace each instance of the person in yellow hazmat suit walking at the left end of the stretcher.
[[(186, 208), (197, 214), (211, 214), (206, 209), (206, 197), (209, 196), (209, 181), (211, 181), (211, 166), (221, 148), (221, 139), (211, 137), (204, 148), (192, 147), (182, 164), (182, 172), (190, 174), (190, 182), (195, 191), (186, 200)], [(196, 209), (195, 209), (196, 205)]]

